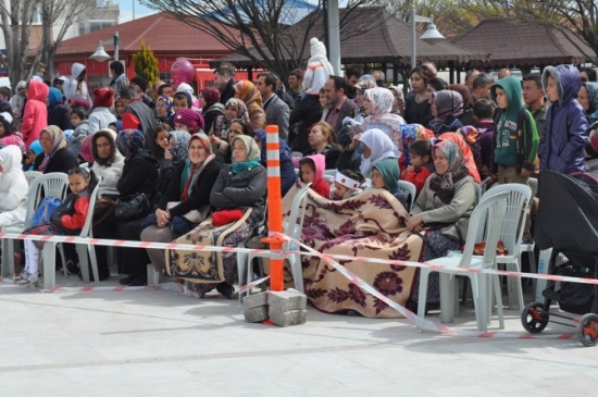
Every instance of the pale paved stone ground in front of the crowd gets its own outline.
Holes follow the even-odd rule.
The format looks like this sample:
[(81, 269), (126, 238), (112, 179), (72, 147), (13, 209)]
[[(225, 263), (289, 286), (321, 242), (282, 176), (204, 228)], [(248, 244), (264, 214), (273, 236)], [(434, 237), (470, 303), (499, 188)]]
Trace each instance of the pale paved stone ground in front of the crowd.
[[(453, 326), (474, 330), (463, 310)], [(598, 349), (577, 339), (418, 334), (406, 320), (313, 308), (307, 324), (279, 328), (246, 323), (237, 300), (217, 296), (0, 284), (0, 395), (10, 397), (546, 397), (593, 394), (598, 381)], [(519, 313), (506, 314), (507, 330), (523, 333)]]

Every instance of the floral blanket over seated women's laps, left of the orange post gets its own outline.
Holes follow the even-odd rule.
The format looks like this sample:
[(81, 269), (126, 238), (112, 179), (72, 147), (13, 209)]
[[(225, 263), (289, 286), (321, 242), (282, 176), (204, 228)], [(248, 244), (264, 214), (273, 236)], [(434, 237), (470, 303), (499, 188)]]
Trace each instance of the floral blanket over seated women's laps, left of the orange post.
[[(212, 218), (200, 223), (189, 233), (178, 237), (173, 243), (222, 246), (224, 239), (235, 233), (247, 222), (251, 209), (246, 209), (244, 216), (223, 226), (214, 226)], [(182, 249), (167, 249), (166, 272), (179, 278), (186, 278), (192, 283), (220, 283), (224, 281), (224, 265), (222, 253), (209, 251), (188, 251)]]

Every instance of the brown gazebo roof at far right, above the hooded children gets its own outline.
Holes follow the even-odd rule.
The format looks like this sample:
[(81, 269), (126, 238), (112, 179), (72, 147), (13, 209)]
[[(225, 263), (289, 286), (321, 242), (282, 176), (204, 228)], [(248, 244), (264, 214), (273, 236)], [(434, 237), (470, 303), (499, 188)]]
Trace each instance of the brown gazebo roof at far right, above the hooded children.
[(591, 48), (571, 32), (538, 23), (514, 24), (486, 20), (453, 40), (458, 46), (490, 53), (489, 66), (533, 66), (583, 63)]

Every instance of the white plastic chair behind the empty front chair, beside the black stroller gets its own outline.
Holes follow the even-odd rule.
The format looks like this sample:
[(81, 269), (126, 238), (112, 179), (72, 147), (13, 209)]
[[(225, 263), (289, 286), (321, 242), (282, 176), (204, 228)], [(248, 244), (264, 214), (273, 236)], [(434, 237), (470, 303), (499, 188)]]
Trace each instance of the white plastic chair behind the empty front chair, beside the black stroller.
[[(507, 201), (507, 211), (504, 213), (504, 222), (500, 231), (500, 240), (504, 244), (507, 255), (498, 256), (496, 261), (498, 264), (504, 264), (508, 271), (521, 271), (521, 239), (523, 229), (525, 228), (526, 209), (532, 200), (532, 189), (523, 184), (501, 184), (494, 185), (482, 196), (482, 202), (493, 195), (501, 191), (509, 193)], [(519, 307), (523, 310), (523, 288), (521, 280), (508, 277), (507, 285), (509, 288), (509, 307), (515, 309)]]

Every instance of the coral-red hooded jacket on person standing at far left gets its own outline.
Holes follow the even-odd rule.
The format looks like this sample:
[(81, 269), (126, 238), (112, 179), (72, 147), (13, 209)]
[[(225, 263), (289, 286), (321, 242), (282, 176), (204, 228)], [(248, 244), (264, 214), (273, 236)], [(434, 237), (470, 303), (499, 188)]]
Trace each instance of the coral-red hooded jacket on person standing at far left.
[(21, 124), (21, 133), (27, 149), (34, 140), (39, 139), (39, 133), (48, 125), (48, 108), (46, 99), (49, 88), (42, 82), (30, 80), (27, 90), (27, 103)]

